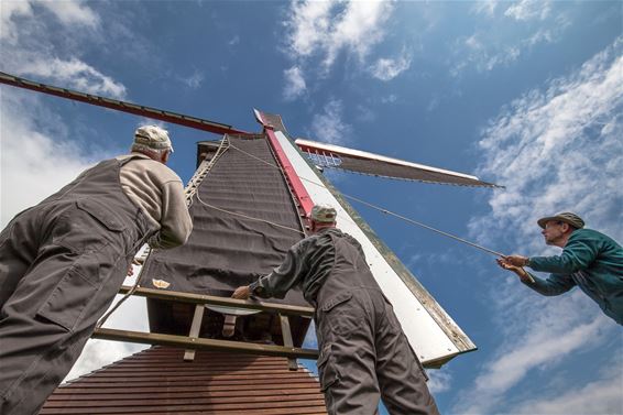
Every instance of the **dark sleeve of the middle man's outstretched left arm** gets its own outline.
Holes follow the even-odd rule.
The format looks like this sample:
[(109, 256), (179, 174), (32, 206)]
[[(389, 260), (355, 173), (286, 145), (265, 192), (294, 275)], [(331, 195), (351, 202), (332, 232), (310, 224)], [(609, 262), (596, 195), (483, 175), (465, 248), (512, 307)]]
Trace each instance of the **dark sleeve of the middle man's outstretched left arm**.
[(310, 240), (304, 239), (292, 247), (281, 265), (249, 286), (251, 293), (262, 298), (285, 297), (285, 294), (298, 284), (300, 277), (307, 272), (305, 258), (309, 244)]

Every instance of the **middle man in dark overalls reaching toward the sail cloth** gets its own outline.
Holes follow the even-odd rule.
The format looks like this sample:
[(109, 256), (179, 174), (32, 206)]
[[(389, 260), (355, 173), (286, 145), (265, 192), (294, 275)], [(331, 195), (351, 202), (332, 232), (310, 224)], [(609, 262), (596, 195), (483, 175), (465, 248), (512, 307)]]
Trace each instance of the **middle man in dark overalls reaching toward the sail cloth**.
[(318, 372), (330, 415), (438, 414), (426, 374), (392, 305), (365, 263), (359, 242), (336, 228), (336, 210), (316, 205), (313, 236), (292, 247), (271, 274), (233, 293), (283, 298), (300, 284), (316, 308)]

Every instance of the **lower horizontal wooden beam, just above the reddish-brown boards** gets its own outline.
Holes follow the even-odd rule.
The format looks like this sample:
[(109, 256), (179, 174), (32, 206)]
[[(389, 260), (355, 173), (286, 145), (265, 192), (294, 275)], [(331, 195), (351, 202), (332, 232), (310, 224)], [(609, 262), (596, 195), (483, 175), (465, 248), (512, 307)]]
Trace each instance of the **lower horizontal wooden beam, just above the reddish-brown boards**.
[(117, 330), (111, 328), (98, 328), (95, 330), (91, 337), (102, 340), (131, 341), (143, 345), (173, 346), (186, 349), (205, 349), (248, 354), (276, 356), (292, 359), (318, 359), (318, 350), (314, 349), (259, 345), (230, 340), (203, 339), (142, 331)]

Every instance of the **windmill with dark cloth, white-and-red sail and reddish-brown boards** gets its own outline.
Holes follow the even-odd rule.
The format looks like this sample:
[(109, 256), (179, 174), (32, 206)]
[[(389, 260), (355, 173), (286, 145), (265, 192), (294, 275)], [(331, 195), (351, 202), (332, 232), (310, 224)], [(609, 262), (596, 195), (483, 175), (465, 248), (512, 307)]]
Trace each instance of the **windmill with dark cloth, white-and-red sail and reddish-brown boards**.
[[(8, 74), (0, 83), (217, 134), (197, 144), (186, 187), (189, 241), (146, 254), (127, 295), (147, 297), (150, 332), (98, 327), (94, 338), (151, 349), (57, 389), (42, 414), (325, 413), (318, 385), (296, 359), (314, 309), (297, 290), (283, 301), (230, 295), (276, 266), (306, 234), (314, 204), (361, 243), (381, 290), (427, 368), (476, 349), (469, 337), (323, 175), (323, 168), (428, 183), (495, 187), (478, 177), (309, 140), (294, 140), (278, 114), (253, 110), (261, 130), (57, 88)], [(351, 199), (356, 199), (352, 198)]]

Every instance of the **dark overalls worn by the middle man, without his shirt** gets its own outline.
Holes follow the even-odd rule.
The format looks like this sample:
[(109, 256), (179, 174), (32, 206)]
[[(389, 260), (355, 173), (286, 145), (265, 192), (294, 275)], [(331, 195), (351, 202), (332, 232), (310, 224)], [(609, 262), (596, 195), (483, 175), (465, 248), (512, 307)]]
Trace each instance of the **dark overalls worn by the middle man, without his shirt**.
[(336, 263), (317, 296), (318, 372), (330, 415), (438, 414), (427, 376), (359, 251), (331, 234)]

